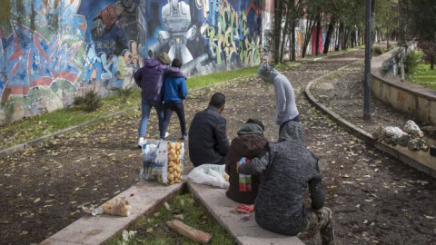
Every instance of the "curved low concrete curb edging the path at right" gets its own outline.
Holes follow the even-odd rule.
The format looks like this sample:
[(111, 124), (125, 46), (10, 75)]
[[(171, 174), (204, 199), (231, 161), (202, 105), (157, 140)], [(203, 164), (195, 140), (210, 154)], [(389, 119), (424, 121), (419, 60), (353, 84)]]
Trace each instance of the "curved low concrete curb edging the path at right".
[[(352, 63), (354, 64), (354, 63)], [(352, 64), (347, 64), (345, 66), (342, 66), (339, 70), (342, 70)], [(336, 73), (337, 71), (334, 71), (332, 73)], [(319, 103), (318, 100), (316, 100), (312, 93), (311, 93), (311, 86), (313, 83), (316, 83), (317, 81), (321, 80), (323, 77), (332, 74), (332, 73), (327, 73), (324, 74), (314, 80), (312, 80), (311, 82), (309, 82), (306, 87), (304, 88), (304, 94), (306, 95), (307, 99), (309, 100), (310, 103), (312, 103), (315, 107), (317, 107), (320, 111), (322, 111), (322, 113), (327, 114), (334, 122), (337, 122), (345, 131), (352, 133), (354, 136), (356, 136), (357, 138), (361, 139), (364, 142), (367, 142), (369, 144), (371, 144), (372, 146), (374, 146), (375, 148), (379, 149), (381, 152), (385, 152), (390, 154), (392, 157), (400, 160), (401, 162), (404, 162), (406, 164), (408, 164), (409, 166), (411, 166), (412, 168), (418, 170), (418, 171), (423, 171), (427, 174), (429, 174), (431, 177), (436, 178), (436, 171), (432, 170), (430, 167), (422, 164), (421, 162), (418, 162), (416, 160), (414, 160), (413, 158), (411, 158), (410, 156), (397, 151), (396, 149), (392, 148), (390, 145), (385, 144), (383, 142), (377, 142), (372, 138), (372, 134), (369, 132), (366, 132), (364, 130), (362, 130), (361, 128), (355, 126), (354, 124), (352, 124), (352, 122), (348, 122), (345, 119), (343, 119), (340, 115), (338, 115), (337, 113), (333, 113), (332, 110), (330, 110), (329, 108), (327, 108), (326, 106), (324, 106), (322, 103)]]

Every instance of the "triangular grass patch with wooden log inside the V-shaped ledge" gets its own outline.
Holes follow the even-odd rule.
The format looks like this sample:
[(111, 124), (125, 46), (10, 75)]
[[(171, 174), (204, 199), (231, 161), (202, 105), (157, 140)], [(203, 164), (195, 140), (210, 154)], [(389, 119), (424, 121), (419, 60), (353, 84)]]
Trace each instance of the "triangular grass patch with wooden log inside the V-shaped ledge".
[[(181, 219), (183, 223), (195, 229), (203, 230), (212, 234), (212, 239), (208, 244), (233, 245), (236, 242), (230, 234), (223, 229), (215, 220), (211, 220), (204, 211), (197, 205), (190, 193), (178, 195), (169, 205), (170, 210), (164, 206), (151, 217), (141, 216), (134, 221), (134, 224), (127, 230), (134, 230), (136, 234), (133, 238), (126, 241), (122, 236), (107, 242), (107, 245), (139, 245), (139, 244), (198, 244), (193, 240), (185, 238), (183, 235), (169, 229), (166, 226), (167, 220)], [(176, 218), (179, 217), (179, 218)], [(124, 243), (123, 243), (124, 241)], [(126, 241), (126, 242), (125, 242)]]

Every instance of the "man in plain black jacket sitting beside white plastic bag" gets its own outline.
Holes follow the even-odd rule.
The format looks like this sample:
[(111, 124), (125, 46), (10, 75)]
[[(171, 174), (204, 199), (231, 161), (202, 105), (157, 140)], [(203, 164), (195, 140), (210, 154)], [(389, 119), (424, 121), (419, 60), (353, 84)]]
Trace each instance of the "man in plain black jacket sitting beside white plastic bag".
[(189, 157), (195, 167), (206, 163), (225, 163), (229, 140), (222, 115), (224, 104), (224, 94), (214, 93), (209, 106), (193, 117), (189, 128)]

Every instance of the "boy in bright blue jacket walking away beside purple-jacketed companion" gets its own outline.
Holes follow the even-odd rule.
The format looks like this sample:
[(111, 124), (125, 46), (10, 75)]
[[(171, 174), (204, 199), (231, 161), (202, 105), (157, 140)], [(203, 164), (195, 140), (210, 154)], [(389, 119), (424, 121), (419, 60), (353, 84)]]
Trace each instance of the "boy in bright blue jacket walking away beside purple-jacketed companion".
[[(171, 64), (173, 70), (182, 67), (182, 62), (179, 59), (173, 59)], [(186, 84), (186, 77), (182, 72), (177, 73), (177, 76), (166, 76), (163, 82), (163, 127), (160, 139), (165, 138), (165, 132), (171, 121), (173, 112), (177, 113), (180, 122), (180, 129), (182, 131), (181, 140), (186, 140), (188, 134), (186, 133), (186, 121), (184, 119), (184, 106), (183, 100), (188, 94), (188, 86)]]

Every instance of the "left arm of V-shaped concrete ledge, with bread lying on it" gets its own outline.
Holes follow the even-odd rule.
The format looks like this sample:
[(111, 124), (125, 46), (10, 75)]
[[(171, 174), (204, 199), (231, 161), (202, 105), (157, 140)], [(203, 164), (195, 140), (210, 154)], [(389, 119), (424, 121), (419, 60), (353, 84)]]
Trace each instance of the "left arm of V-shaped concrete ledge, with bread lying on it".
[(165, 201), (186, 190), (186, 182), (165, 186), (157, 182), (139, 181), (121, 192), (117, 198), (124, 198), (132, 206), (128, 217), (101, 214), (93, 217), (86, 214), (79, 220), (42, 241), (41, 245), (104, 244), (127, 229), (141, 215), (150, 216), (158, 211)]

